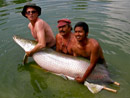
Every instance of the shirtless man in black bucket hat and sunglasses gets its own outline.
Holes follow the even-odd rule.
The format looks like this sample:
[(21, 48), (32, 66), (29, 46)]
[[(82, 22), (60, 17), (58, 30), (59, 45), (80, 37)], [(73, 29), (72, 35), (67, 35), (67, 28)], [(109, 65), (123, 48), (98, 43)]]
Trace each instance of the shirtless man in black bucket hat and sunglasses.
[(30, 21), (28, 27), (32, 36), (38, 42), (31, 51), (26, 51), (26, 55), (32, 56), (44, 47), (53, 47), (55, 45), (55, 36), (52, 29), (44, 20), (38, 17), (41, 15), (41, 8), (34, 3), (28, 3), (21, 13)]

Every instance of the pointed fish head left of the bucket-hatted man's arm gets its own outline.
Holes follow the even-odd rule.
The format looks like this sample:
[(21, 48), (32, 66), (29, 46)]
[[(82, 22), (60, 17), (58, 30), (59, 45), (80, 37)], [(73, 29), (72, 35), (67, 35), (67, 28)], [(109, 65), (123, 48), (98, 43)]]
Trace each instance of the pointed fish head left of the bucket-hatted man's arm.
[(23, 39), (16, 35), (13, 36), (13, 39), (19, 46), (24, 49), (24, 51), (31, 51), (37, 43), (36, 41)]

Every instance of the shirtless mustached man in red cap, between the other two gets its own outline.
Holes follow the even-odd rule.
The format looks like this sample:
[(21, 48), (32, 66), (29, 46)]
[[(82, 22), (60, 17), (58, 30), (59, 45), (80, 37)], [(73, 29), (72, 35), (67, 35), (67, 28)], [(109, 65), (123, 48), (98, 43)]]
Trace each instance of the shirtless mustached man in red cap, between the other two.
[(59, 33), (56, 35), (56, 51), (65, 54), (72, 54), (71, 41), (74, 34), (71, 32), (71, 21), (69, 19), (58, 20)]

